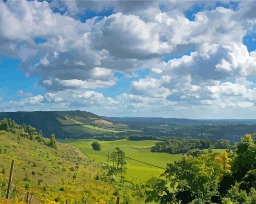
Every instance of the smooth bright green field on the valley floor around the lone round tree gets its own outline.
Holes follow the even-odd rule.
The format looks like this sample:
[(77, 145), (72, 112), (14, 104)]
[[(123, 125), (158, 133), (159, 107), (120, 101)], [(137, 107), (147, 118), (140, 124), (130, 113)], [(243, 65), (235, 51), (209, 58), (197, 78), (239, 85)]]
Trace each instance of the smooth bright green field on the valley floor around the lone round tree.
[[(100, 143), (101, 151), (94, 151), (92, 149), (91, 143), (95, 141)], [(61, 142), (77, 146), (90, 159), (95, 159), (96, 162), (106, 162), (108, 151), (111, 151), (116, 147), (121, 148), (125, 152), (125, 155), (129, 157), (127, 158), (128, 169), (126, 179), (133, 182), (144, 182), (153, 176), (159, 177), (159, 175), (164, 172), (164, 168), (166, 167), (167, 163), (177, 161), (183, 156), (180, 154), (172, 155), (167, 153), (150, 152), (150, 148), (154, 146), (156, 142), (153, 140), (61, 140)], [(136, 159), (138, 161), (132, 159)], [(144, 163), (141, 163), (140, 161)], [(154, 167), (149, 164), (158, 167)]]

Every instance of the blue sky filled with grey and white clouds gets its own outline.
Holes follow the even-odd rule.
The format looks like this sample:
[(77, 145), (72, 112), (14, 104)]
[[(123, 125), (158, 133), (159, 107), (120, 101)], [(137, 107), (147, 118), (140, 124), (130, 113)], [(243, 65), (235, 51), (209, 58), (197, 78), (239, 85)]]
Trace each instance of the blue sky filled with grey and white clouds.
[(0, 0), (0, 111), (256, 118), (256, 1)]

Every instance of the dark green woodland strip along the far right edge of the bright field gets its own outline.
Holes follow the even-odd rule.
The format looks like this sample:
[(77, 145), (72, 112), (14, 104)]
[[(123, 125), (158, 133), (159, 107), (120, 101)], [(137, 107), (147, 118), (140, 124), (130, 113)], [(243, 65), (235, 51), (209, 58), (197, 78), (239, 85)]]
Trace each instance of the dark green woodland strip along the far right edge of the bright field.
[(209, 139), (188, 139), (188, 138), (175, 138), (166, 139), (163, 142), (157, 142), (151, 148), (151, 152), (166, 152), (170, 154), (186, 153), (191, 149), (229, 149), (232, 145), (229, 140), (211, 141)]

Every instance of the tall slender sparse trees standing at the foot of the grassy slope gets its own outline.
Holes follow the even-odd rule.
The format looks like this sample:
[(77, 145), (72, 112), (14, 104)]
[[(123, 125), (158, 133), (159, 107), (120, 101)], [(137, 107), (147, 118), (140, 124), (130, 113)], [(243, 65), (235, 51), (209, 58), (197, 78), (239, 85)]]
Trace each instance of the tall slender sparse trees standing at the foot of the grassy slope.
[(125, 153), (119, 147), (116, 147), (115, 151), (110, 154), (108, 152), (107, 166), (105, 168), (108, 171), (107, 175), (110, 176), (112, 180), (114, 180), (114, 176), (120, 176), (120, 182), (123, 181), (127, 170), (126, 165)]

